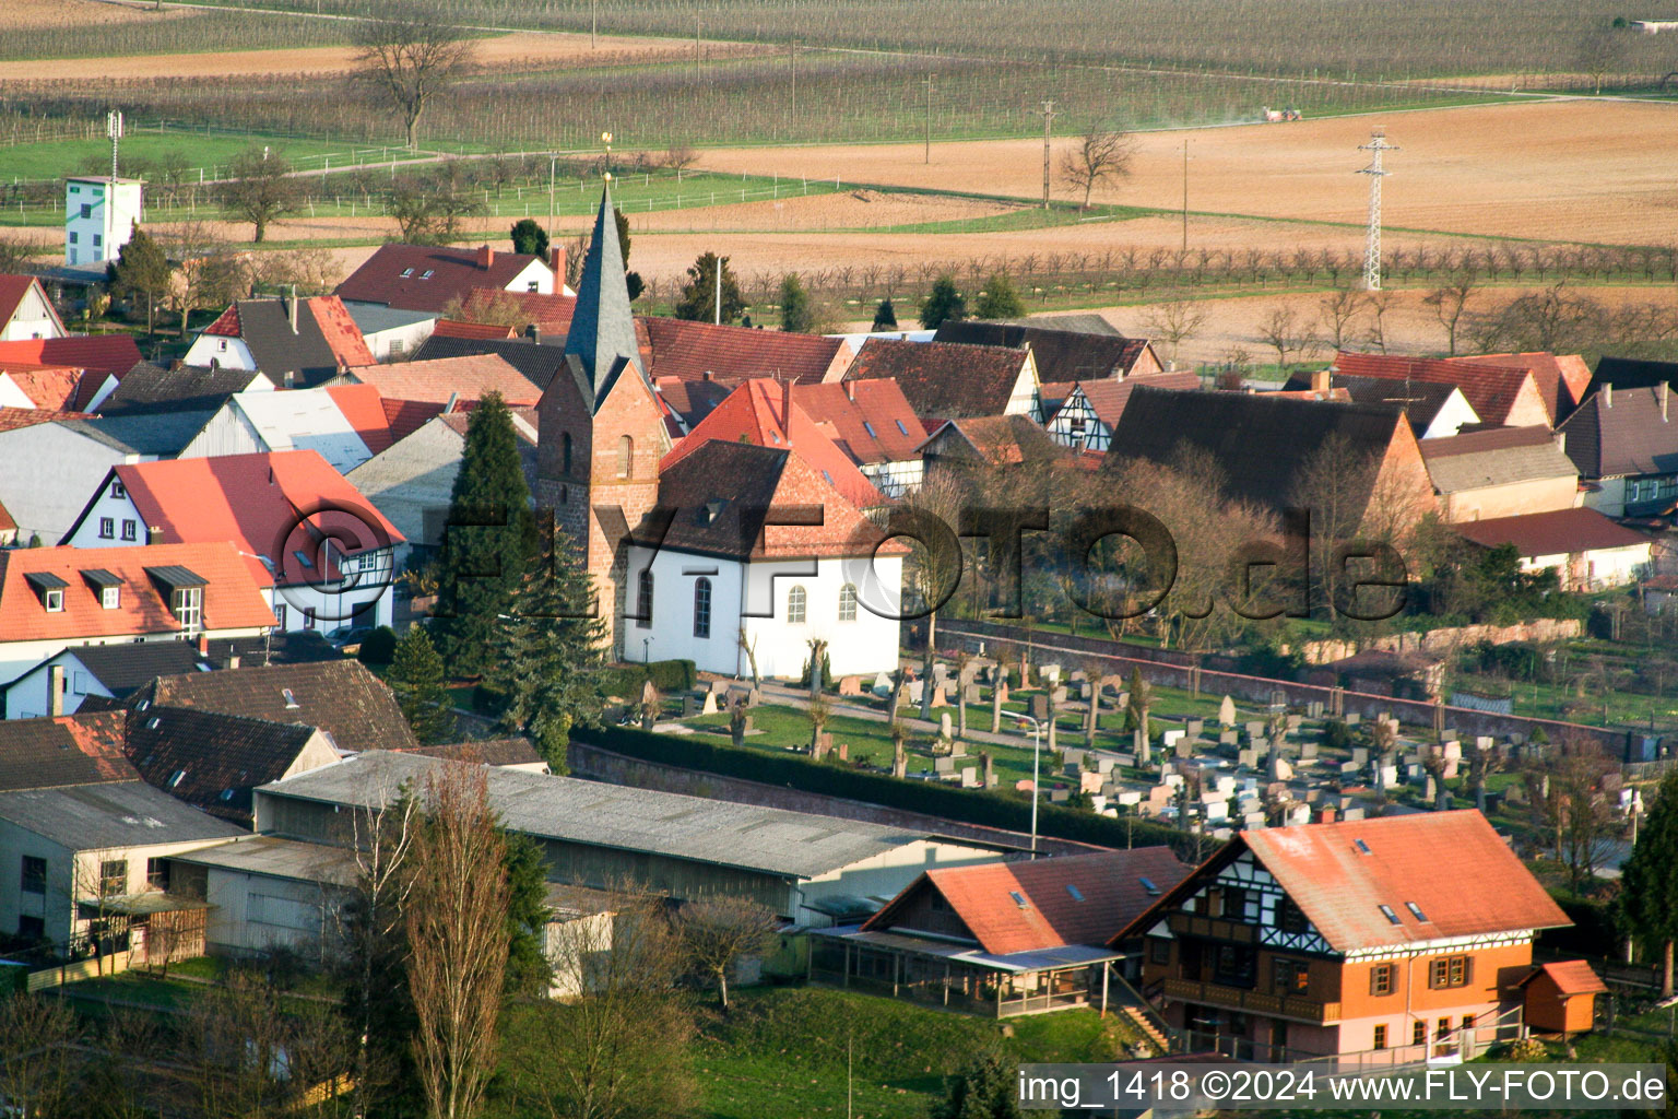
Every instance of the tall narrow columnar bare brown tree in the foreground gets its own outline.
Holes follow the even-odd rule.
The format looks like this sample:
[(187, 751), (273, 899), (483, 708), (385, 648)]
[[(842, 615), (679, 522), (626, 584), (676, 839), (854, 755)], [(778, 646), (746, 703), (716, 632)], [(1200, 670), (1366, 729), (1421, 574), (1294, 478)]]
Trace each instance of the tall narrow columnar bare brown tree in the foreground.
[(507, 841), (483, 767), (446, 762), (426, 775), (413, 846), (408, 986), (414, 1062), (431, 1119), (472, 1119), (495, 1072), (507, 968)]

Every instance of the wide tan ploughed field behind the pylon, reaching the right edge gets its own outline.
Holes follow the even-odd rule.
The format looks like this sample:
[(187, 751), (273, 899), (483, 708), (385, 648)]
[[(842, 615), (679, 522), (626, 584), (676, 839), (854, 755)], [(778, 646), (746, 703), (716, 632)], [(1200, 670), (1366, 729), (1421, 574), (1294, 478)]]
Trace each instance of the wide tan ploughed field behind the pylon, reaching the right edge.
[[(1191, 210), (1363, 221), (1358, 146), (1386, 126), (1386, 225), (1488, 237), (1678, 242), (1671, 133), (1678, 104), (1557, 99), (1138, 136), (1134, 174), (1097, 201), (1176, 208), (1188, 141)], [(1067, 149), (1060, 139), (1055, 148)], [(1055, 156), (1059, 161), (1059, 154)], [(1042, 143), (720, 149), (701, 166), (755, 174), (842, 174), (859, 183), (997, 195), (1042, 191)], [(1067, 188), (1057, 185), (1067, 196)]]

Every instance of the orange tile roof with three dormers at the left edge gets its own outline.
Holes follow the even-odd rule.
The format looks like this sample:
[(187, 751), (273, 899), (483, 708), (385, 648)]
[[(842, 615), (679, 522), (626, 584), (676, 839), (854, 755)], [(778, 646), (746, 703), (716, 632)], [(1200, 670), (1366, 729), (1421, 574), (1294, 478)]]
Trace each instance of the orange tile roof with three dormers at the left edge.
[[(312, 453), (312, 451), (310, 451)], [(215, 461), (200, 458), (193, 461)], [(0, 550), (0, 634), (5, 641), (79, 641), (180, 632), (168, 599), (148, 567), (186, 567), (205, 579), (205, 629), (274, 626), (274, 612), (250, 564), (227, 540), (153, 544), (129, 549)], [(121, 580), (121, 606), (104, 609), (84, 570), (107, 570)], [(64, 580), (64, 609), (49, 612), (25, 575)], [(263, 579), (267, 582), (267, 579)]]

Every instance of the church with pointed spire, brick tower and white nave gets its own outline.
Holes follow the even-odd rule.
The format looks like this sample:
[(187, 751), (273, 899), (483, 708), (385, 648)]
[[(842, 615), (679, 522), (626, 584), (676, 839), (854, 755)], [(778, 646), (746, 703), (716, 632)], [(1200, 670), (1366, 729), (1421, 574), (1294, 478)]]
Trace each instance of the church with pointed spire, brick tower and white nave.
[(582, 557), (611, 656), (797, 678), (819, 639), (834, 674), (894, 669), (908, 549), (790, 446), (671, 455), (664, 413), (607, 183), (565, 364), (539, 404), (535, 498)]

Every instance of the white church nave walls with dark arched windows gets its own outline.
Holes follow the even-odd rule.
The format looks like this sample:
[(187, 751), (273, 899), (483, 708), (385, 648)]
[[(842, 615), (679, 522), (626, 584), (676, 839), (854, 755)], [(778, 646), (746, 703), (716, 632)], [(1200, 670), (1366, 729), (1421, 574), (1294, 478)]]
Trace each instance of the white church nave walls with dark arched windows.
[[(834, 676), (893, 671), (898, 664), (899, 557), (743, 564), (673, 549), (654, 555), (651, 549), (631, 547), (629, 570), (634, 574), (626, 604), (631, 614), (638, 612), (641, 572), (649, 564), (651, 619), (621, 622), (628, 659), (688, 659), (701, 671), (747, 676), (750, 659), (740, 648), (745, 627), (757, 669), (767, 678), (802, 676), (810, 638), (827, 641)], [(706, 627), (700, 624), (701, 580), (710, 594), (708, 632), (701, 632)], [(849, 602), (847, 587), (856, 592), (854, 602)]]

